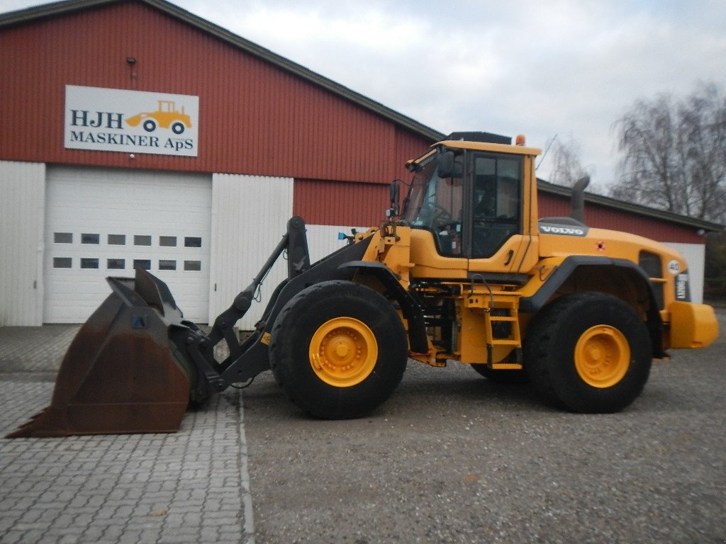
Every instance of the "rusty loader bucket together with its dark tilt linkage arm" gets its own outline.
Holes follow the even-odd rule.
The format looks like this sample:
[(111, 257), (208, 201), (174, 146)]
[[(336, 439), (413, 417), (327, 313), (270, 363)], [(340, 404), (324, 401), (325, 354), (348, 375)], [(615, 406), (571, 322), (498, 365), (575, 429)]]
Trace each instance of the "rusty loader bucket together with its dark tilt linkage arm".
[[(288, 221), (287, 234), (209, 334), (184, 320), (166, 284), (147, 271), (137, 268), (134, 279), (108, 278), (112, 292), (65, 353), (51, 404), (7, 437), (178, 430), (189, 400), (200, 402), (269, 368), (266, 344), (259, 341), (263, 328), (240, 345), (233, 327), (285, 250), (290, 281), (310, 268), (301, 218)], [(213, 348), (221, 341), (229, 357), (218, 363)]]

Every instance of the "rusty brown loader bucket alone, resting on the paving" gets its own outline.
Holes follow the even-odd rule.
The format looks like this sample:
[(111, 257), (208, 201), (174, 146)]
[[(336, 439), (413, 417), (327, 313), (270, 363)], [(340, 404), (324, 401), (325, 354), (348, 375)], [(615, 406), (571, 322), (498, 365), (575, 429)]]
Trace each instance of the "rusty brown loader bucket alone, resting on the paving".
[(169, 340), (185, 327), (181, 312), (146, 271), (107, 281), (113, 292), (68, 347), (51, 404), (8, 438), (179, 429), (194, 382), (194, 367)]

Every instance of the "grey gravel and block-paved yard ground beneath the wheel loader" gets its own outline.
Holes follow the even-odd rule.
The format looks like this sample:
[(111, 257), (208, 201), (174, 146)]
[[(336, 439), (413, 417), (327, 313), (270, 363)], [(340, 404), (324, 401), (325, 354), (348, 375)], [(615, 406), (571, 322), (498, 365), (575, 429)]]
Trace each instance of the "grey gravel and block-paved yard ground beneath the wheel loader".
[[(159, 544), (197, 535), (197, 542), (238, 543), (242, 532), (254, 527), (249, 542), (256, 544), (725, 543), (726, 310), (719, 310), (719, 321), (722, 337), (715, 345), (674, 351), (673, 360), (655, 363), (643, 395), (626, 411), (607, 416), (555, 411), (542, 405), (529, 387), (494, 384), (468, 366), (452, 363), (439, 369), (412, 361), (391, 400), (371, 416), (319, 421), (289, 403), (266, 373), (242, 393), (243, 412), (238, 403), (221, 402), (239, 400), (237, 392), (229, 390), (216, 404), (187, 413), (179, 434), (162, 437), (160, 448), (167, 442), (176, 448), (180, 440), (188, 445), (165, 458), (176, 467), (169, 482), (162, 481), (164, 463), (140, 467), (153, 477), (129, 490), (136, 493), (133, 498), (124, 498), (140, 501), (135, 518), (114, 514), (106, 519), (101, 514), (113, 504), (99, 499), (97, 506), (91, 506), (103, 519), (83, 511), (66, 523), (68, 527), (44, 521), (46, 511), (56, 512), (57, 520), (70, 515), (73, 504), (64, 503), (59, 495), (54, 499), (58, 507), (36, 500), (35, 509), (15, 514), (0, 508), (0, 533), (5, 531), (6, 537), (18, 529), (18, 520), (31, 514), (41, 516), (33, 523), (42, 522), (42, 527), (23, 526), (27, 531), (17, 533), (19, 540), (0, 537), (0, 541), (60, 542), (32, 540), (33, 531), (45, 530), (43, 538), (52, 534), (75, 538), (64, 531), (86, 525), (106, 529), (114, 522), (118, 527), (111, 528), (122, 536), (136, 535), (139, 524), (148, 534), (139, 533), (133, 540), (107, 535), (110, 538), (103, 542)], [(48, 380), (53, 379), (72, 332), (53, 326), (23, 331), (23, 349), (16, 338), (18, 330), (0, 328), (4, 353), (0, 382), (10, 380), (25, 387), (21, 390), (7, 382), (9, 389), (2, 395), (5, 430), (47, 402)], [(30, 342), (29, 350), (28, 334), (38, 340)], [(225, 442), (225, 433), (233, 430), (240, 437)], [(247, 456), (240, 446), (245, 434)], [(20, 463), (21, 469), (27, 469), (33, 463), (52, 463), (50, 452), (65, 442), (89, 445), (78, 450), (78, 456), (97, 455), (105, 462), (108, 455), (113, 463), (127, 466), (125, 454), (114, 453), (115, 445), (125, 440), (158, 442), (158, 435), (115, 437), (111, 442), (106, 437), (34, 440), (39, 449), (32, 456), (12, 453), (20, 442), (3, 441), (9, 449), (0, 458), (10, 464), (0, 475), (7, 485), (15, 478), (16, 487), (46, 482), (44, 473), (36, 469), (24, 482), (25, 473), (12, 466)], [(107, 443), (112, 447), (106, 448)], [(48, 453), (41, 448), (44, 444)], [(138, 455), (145, 459), (152, 452), (144, 445)], [(230, 456), (232, 461), (227, 460)], [(240, 460), (245, 466), (242, 472), (249, 474), (249, 480), (243, 474), (242, 491), (251, 498), (245, 508), (240, 485), (222, 489), (232, 482), (223, 477), (224, 471), (239, 469)], [(76, 462), (76, 457), (68, 456), (68, 462)], [(179, 493), (192, 485), (185, 474), (196, 477), (197, 472), (184, 467), (198, 469), (200, 462), (205, 463), (208, 478), (193, 485), (203, 504), (209, 499), (209, 504), (219, 504), (219, 511), (205, 514), (197, 508), (187, 519), (179, 508), (195, 506), (179, 503), (184, 499)], [(118, 474), (126, 472), (122, 467)], [(181, 479), (174, 476), (176, 472)], [(114, 486), (93, 487), (94, 474), (78, 474), (82, 480), (78, 489), (99, 496), (119, 493)], [(251, 495), (246, 495), (248, 481)], [(0, 490), (4, 499), (11, 500), (20, 487), (7, 485)], [(146, 493), (144, 486), (150, 485), (163, 489)], [(154, 495), (160, 492), (168, 496)], [(159, 500), (166, 501), (163, 508), (144, 502)], [(154, 517), (158, 512), (164, 515)], [(204, 536), (205, 524), (213, 526), (212, 540)]]

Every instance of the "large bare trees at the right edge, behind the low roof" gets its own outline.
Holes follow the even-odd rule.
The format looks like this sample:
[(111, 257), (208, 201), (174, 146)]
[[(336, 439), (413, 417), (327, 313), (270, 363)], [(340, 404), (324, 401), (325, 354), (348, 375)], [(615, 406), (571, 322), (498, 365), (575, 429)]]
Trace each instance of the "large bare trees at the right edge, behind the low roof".
[(714, 83), (685, 99), (640, 99), (616, 121), (613, 197), (690, 217), (726, 217), (726, 98)]

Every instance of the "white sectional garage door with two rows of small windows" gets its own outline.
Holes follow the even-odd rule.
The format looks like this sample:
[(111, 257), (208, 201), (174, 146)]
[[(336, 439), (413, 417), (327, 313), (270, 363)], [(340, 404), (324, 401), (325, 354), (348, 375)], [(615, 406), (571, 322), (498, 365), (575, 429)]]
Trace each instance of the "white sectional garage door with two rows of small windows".
[(209, 305), (211, 176), (49, 167), (44, 322), (82, 323), (107, 276), (141, 266), (166, 281), (184, 317)]

